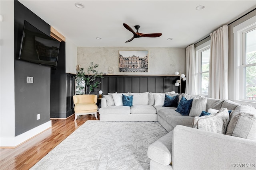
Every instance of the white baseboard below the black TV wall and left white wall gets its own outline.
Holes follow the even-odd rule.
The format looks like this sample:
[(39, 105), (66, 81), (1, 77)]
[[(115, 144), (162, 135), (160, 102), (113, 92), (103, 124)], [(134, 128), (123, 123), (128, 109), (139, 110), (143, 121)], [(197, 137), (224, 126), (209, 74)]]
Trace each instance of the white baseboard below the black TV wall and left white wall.
[(16, 147), (49, 127), (52, 127), (51, 120), (16, 137), (0, 137), (0, 147)]

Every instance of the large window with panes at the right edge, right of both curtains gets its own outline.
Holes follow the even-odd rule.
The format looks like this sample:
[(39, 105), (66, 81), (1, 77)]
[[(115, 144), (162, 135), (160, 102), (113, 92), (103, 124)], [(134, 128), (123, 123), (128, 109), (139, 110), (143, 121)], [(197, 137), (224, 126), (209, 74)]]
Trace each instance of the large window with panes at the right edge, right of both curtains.
[(234, 100), (256, 102), (256, 17), (234, 27)]

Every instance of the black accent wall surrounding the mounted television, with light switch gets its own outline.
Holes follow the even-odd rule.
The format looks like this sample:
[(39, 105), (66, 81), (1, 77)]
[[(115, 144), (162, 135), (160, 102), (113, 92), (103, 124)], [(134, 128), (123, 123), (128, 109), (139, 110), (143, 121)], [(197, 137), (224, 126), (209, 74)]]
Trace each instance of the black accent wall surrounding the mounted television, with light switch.
[[(51, 68), (18, 60), (24, 20), (50, 36), (50, 25), (14, 0), (15, 136), (50, 121)], [(34, 83), (26, 83), (27, 76)]]

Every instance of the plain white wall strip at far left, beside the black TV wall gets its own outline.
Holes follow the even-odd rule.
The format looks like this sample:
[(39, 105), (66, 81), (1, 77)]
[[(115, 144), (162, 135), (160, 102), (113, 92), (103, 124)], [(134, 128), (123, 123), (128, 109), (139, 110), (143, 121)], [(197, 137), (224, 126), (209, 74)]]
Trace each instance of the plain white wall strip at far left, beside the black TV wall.
[(0, 1), (0, 137), (15, 136), (14, 1)]

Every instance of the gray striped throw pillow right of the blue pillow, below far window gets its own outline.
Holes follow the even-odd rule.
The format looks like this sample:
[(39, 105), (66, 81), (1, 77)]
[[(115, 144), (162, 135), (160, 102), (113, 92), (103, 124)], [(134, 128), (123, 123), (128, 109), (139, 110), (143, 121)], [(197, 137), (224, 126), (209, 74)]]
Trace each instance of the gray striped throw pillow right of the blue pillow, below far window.
[(192, 117), (199, 116), (202, 111), (205, 111), (207, 98), (194, 98), (189, 115)]

